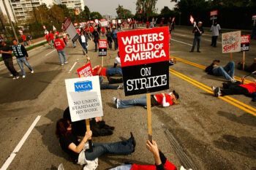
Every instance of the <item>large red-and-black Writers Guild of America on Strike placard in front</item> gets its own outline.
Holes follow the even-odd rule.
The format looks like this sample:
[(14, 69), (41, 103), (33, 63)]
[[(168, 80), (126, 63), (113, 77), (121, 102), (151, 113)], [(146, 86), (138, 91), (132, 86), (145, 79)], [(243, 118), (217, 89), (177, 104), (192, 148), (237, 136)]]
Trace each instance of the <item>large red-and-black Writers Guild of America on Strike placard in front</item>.
[(125, 96), (169, 88), (168, 27), (118, 32)]

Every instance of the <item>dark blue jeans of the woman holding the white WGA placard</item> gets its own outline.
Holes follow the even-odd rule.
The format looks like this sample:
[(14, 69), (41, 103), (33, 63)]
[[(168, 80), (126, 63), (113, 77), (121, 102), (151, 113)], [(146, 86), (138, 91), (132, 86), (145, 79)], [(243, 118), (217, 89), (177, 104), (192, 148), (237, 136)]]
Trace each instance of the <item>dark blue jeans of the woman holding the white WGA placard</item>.
[(99, 156), (108, 154), (128, 155), (133, 151), (132, 139), (114, 143), (94, 143), (93, 152), (86, 150), (86, 160), (93, 161)]

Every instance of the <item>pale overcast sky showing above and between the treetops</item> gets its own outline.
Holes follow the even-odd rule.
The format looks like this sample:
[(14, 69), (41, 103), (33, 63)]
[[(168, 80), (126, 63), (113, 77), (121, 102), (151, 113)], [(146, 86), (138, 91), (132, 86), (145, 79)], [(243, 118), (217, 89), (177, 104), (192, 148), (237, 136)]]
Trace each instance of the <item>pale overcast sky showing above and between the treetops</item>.
[[(137, 0), (85, 0), (85, 5), (89, 7), (91, 11), (97, 11), (101, 15), (113, 15), (116, 16), (116, 8), (118, 4), (123, 5), (124, 8), (132, 11), (135, 14)], [(165, 6), (173, 9), (175, 3), (171, 3), (170, 0), (158, 0), (156, 8), (158, 12)]]

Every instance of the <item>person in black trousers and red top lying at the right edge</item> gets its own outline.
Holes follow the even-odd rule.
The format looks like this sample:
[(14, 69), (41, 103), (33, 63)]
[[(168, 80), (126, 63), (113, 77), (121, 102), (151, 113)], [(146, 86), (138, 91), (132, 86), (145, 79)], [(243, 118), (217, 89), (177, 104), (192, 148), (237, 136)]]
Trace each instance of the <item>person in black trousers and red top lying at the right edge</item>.
[(256, 82), (250, 82), (245, 85), (238, 85), (232, 83), (223, 83), (223, 88), (215, 88), (212, 87), (214, 91), (214, 96), (228, 96), (228, 95), (236, 95), (236, 94), (244, 94), (246, 96), (252, 96), (253, 101), (255, 101), (255, 93), (256, 93)]

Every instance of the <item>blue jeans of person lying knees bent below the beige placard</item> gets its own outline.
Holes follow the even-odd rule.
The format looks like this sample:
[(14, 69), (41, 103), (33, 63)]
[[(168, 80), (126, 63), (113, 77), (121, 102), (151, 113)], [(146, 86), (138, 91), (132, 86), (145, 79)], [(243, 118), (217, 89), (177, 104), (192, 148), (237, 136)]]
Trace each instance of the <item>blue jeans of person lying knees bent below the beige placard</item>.
[(226, 80), (233, 80), (235, 74), (235, 63), (234, 61), (230, 61), (224, 68), (219, 66), (213, 69), (212, 72), (214, 76), (223, 76)]

